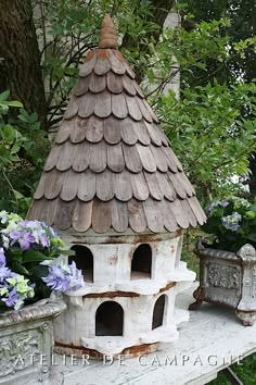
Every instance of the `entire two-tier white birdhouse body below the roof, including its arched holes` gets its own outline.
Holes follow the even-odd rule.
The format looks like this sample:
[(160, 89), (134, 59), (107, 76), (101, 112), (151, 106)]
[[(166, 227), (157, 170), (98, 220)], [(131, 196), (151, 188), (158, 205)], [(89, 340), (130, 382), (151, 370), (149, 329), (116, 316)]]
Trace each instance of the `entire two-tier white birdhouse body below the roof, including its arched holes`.
[(177, 309), (176, 296), (195, 278), (180, 261), (181, 237), (125, 239), (72, 246), (80, 269), (85, 262), (86, 285), (64, 296), (67, 309), (54, 323), (57, 352), (136, 357), (178, 339), (189, 312)]

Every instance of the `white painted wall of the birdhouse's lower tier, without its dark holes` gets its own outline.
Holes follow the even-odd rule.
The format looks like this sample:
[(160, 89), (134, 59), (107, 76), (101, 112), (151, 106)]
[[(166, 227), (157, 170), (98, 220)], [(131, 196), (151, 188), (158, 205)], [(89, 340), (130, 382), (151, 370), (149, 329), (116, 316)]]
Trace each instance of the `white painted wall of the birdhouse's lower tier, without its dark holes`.
[[(66, 297), (69, 311), (65, 312), (63, 320), (68, 325), (68, 331), (65, 328), (63, 335), (63, 330), (59, 327), (63, 320), (59, 318), (55, 322), (55, 339), (67, 345), (81, 345), (105, 355), (120, 353), (125, 348), (135, 345), (174, 341), (178, 338), (176, 325), (189, 319), (188, 312), (174, 313), (176, 294), (177, 290), (172, 287), (157, 296), (115, 298), (124, 309), (124, 336), (95, 336), (97, 309), (101, 303), (111, 300), (110, 298), (86, 298), (82, 308), (77, 309)], [(154, 305), (162, 295), (167, 296), (163, 326), (152, 331)]]

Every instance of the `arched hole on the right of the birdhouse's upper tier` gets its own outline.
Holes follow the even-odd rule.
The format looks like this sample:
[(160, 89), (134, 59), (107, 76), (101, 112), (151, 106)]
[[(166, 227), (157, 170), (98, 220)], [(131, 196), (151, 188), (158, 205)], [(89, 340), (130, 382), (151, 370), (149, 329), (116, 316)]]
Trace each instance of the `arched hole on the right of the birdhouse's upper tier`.
[(131, 280), (151, 278), (152, 249), (142, 244), (136, 249), (131, 260)]

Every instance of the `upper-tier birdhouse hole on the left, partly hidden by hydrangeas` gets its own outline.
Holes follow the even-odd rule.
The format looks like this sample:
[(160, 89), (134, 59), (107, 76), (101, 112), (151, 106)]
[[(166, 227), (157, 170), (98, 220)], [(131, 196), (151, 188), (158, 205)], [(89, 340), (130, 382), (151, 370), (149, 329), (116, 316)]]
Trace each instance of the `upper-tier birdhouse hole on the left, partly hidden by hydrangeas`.
[(75, 245), (72, 250), (76, 252), (75, 256), (68, 257), (68, 262), (76, 262), (77, 269), (81, 270), (86, 282), (93, 282), (93, 256), (88, 247)]

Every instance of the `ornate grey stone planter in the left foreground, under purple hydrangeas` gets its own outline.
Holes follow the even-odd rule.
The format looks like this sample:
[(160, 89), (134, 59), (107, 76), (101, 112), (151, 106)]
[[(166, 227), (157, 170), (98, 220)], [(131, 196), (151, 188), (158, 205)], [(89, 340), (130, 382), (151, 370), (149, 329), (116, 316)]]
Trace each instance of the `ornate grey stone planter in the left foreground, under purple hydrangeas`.
[(52, 321), (64, 309), (64, 302), (43, 299), (0, 314), (0, 384), (63, 383), (51, 362)]

